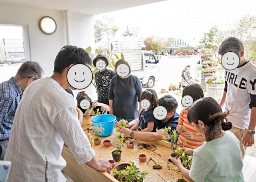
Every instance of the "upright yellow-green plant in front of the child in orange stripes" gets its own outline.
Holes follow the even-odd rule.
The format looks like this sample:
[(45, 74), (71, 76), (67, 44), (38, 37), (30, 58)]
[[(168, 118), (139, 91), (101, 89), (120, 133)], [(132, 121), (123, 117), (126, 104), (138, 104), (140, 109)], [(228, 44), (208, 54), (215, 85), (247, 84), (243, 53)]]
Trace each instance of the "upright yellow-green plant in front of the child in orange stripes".
[(162, 135), (163, 139), (170, 143), (171, 149), (174, 151), (178, 146), (178, 133), (177, 130), (172, 130), (171, 126), (165, 127), (165, 135)]

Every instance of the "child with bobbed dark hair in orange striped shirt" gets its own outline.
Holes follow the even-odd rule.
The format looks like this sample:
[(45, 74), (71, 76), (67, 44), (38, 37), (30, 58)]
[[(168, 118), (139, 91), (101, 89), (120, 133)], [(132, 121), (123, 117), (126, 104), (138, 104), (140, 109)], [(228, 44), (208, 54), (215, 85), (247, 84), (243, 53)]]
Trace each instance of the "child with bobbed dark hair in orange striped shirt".
[[(187, 95), (191, 96), (193, 98), (193, 102), (195, 102), (196, 100), (204, 97), (204, 92), (200, 85), (194, 83), (187, 85), (184, 88), (182, 97)], [(184, 109), (180, 113), (177, 126), (177, 131), (180, 133), (178, 144), (181, 147), (197, 148), (204, 144), (205, 138), (196, 131), (193, 123), (188, 122), (187, 113), (189, 107), (185, 107), (183, 104), (182, 106)]]

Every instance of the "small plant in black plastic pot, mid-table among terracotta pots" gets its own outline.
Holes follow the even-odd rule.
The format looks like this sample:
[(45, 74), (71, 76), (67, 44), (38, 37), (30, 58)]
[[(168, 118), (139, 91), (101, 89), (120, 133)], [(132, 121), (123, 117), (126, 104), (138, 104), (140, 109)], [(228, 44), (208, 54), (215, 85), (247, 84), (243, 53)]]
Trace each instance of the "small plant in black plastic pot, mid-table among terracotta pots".
[[(121, 160), (121, 155), (122, 155), (121, 149), (125, 147), (124, 139), (125, 139), (124, 133), (120, 133), (119, 131), (117, 131), (116, 138), (115, 138), (116, 150), (112, 151), (112, 157), (116, 162)], [(126, 144), (128, 143), (129, 141), (126, 141)]]

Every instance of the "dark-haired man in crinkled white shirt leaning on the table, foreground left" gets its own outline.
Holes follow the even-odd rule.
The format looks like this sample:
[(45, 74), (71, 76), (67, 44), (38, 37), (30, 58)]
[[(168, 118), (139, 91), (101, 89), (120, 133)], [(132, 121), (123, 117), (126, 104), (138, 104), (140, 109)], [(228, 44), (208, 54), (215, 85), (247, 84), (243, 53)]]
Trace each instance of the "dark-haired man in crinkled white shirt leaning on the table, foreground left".
[(91, 64), (82, 48), (67, 45), (58, 53), (51, 77), (36, 80), (23, 93), (13, 121), (4, 160), (11, 161), (8, 182), (64, 182), (66, 166), (61, 152), (65, 142), (79, 164), (103, 172), (112, 169), (106, 160), (96, 161), (82, 130), (73, 97), (68, 69), (77, 63)]

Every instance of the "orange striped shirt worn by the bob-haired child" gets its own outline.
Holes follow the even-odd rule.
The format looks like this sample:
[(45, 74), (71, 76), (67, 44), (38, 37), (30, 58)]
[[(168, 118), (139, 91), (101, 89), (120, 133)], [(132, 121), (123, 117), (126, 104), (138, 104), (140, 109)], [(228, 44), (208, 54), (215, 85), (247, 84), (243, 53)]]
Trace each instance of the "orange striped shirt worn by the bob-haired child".
[(188, 138), (184, 135), (185, 132), (190, 132), (193, 135), (201, 136), (195, 129), (193, 123), (189, 123), (187, 119), (188, 109), (183, 109), (180, 113), (180, 118), (178, 119), (178, 126), (183, 126), (184, 130), (180, 133), (180, 136), (178, 138), (178, 144), (181, 147), (188, 147), (188, 148), (197, 148), (204, 144), (203, 141), (194, 140), (191, 138)]

